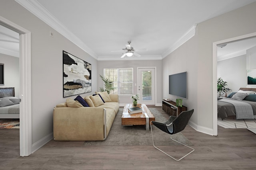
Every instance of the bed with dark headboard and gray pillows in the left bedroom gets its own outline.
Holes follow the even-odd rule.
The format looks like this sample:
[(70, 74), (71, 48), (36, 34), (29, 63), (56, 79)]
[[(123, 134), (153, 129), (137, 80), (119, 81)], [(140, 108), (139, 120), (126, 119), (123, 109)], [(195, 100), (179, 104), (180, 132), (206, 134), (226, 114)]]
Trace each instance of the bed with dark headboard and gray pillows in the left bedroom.
[(0, 119), (20, 118), (20, 99), (14, 88), (0, 88)]

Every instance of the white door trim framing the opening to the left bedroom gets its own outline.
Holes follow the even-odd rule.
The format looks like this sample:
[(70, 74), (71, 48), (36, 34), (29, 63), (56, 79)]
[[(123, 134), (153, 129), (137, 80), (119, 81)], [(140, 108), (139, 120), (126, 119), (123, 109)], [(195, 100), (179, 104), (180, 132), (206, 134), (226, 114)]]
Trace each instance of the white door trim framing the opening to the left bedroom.
[(31, 32), (0, 16), (0, 25), (20, 34), (20, 156), (32, 153)]

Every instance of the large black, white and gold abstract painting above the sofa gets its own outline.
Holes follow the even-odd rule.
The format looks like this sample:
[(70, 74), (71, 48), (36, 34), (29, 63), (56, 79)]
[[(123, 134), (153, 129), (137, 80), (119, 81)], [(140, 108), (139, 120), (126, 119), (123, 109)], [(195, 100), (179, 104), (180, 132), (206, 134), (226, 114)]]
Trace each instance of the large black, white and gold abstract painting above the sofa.
[(92, 65), (63, 51), (63, 97), (92, 92)]

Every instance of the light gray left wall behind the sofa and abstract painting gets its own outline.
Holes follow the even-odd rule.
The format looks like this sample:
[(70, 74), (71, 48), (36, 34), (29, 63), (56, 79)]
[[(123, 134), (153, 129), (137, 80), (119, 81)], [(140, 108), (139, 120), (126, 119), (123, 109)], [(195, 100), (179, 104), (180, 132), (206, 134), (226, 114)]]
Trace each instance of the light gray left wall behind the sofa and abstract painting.
[[(62, 50), (92, 64), (92, 92), (97, 89), (97, 61), (14, 0), (4, 0), (0, 16), (31, 31), (32, 146), (52, 135), (52, 113), (63, 98)], [(54, 37), (50, 37), (50, 31)], [(71, 98), (75, 98), (72, 96)], [(37, 148), (32, 147), (32, 151)]]

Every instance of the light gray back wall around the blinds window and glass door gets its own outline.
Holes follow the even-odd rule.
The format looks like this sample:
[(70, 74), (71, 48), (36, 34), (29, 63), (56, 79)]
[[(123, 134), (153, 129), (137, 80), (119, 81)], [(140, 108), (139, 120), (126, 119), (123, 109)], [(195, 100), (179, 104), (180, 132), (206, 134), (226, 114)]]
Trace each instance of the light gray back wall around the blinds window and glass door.
[[(161, 60), (119, 60), (119, 61), (98, 61), (98, 74), (103, 75), (104, 68), (132, 67), (134, 84), (137, 82), (137, 67), (156, 67), (156, 103), (162, 104), (162, 61)], [(103, 82), (98, 76), (98, 90), (103, 87)], [(134, 94), (137, 94), (137, 86), (134, 86)], [(120, 96), (120, 106), (131, 103), (131, 96)], [(162, 105), (161, 105), (162, 106)]]

